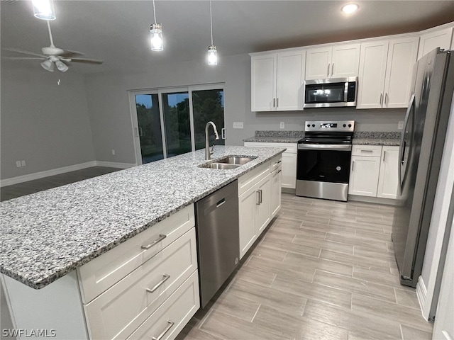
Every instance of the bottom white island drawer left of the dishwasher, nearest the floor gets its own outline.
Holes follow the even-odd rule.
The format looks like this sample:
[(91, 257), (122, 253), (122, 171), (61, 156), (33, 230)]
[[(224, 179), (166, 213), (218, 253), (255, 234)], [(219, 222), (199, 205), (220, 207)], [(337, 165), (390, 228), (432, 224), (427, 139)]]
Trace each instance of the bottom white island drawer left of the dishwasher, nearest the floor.
[(199, 307), (199, 276), (195, 271), (128, 340), (175, 339)]

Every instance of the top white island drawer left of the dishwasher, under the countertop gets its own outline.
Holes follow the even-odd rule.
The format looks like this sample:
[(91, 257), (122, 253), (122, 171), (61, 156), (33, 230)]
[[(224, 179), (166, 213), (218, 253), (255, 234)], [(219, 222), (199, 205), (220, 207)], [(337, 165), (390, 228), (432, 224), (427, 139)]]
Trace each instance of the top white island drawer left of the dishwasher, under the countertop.
[[(194, 205), (176, 212), (77, 269), (82, 302), (87, 303), (194, 227)], [(166, 237), (162, 239), (163, 236)], [(142, 246), (149, 246), (142, 249)]]

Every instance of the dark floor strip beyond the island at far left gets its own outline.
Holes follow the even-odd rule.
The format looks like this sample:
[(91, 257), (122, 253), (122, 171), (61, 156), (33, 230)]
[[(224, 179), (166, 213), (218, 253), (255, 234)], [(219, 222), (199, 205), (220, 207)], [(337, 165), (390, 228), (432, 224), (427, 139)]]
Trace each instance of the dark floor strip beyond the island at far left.
[(44, 177), (43, 179), (35, 179), (33, 181), (26, 181), (23, 183), (13, 184), (11, 186), (4, 186), (0, 188), (0, 201), (11, 200), (21, 196), (37, 193), (57, 186), (64, 186), (65, 184), (82, 181), (84, 179), (91, 179), (92, 177), (109, 174), (110, 172), (118, 171), (121, 169), (110, 168), (106, 166), (92, 166), (86, 169), (66, 172), (54, 176)]

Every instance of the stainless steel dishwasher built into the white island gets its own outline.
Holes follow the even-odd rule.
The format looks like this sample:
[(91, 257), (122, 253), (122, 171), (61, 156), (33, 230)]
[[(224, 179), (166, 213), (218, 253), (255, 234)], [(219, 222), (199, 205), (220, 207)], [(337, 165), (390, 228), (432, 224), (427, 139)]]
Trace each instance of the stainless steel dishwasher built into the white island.
[(238, 265), (239, 233), (237, 181), (196, 202), (202, 308)]

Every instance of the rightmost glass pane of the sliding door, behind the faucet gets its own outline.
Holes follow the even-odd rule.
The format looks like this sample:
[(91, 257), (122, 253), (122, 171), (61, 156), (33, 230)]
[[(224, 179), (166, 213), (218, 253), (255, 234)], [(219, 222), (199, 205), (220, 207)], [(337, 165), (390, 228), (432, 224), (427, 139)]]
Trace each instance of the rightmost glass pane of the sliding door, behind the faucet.
[(219, 140), (214, 140), (212, 128), (209, 128), (210, 145), (225, 145), (221, 131), (224, 128), (224, 93), (222, 89), (192, 91), (192, 112), (194, 113), (194, 137), (196, 149), (205, 147), (205, 125), (210, 120), (216, 124)]

